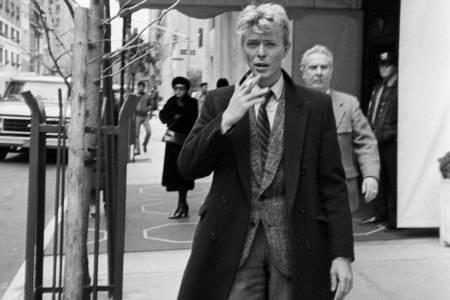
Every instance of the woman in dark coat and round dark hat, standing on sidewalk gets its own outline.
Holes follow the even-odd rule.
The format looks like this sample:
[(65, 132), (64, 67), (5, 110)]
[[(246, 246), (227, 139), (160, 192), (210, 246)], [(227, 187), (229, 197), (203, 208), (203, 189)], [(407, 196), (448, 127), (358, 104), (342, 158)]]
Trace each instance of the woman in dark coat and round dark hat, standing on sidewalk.
[[(191, 84), (186, 78), (175, 77), (172, 81), (174, 95), (167, 100), (163, 109), (159, 112), (161, 122), (167, 124), (168, 129), (186, 136), (191, 131), (198, 116), (197, 100), (188, 95), (190, 86)], [(194, 181), (184, 179), (178, 171), (177, 159), (181, 147), (166, 143), (162, 185), (166, 187), (168, 192), (178, 191), (178, 205), (176, 210), (169, 215), (169, 219), (188, 216), (187, 192), (194, 188)]]

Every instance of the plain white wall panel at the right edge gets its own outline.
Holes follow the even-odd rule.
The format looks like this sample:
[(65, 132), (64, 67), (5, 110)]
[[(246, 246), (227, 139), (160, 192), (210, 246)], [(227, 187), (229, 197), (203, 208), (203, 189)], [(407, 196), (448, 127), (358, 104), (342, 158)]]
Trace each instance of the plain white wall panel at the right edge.
[(398, 225), (437, 227), (437, 159), (450, 151), (450, 1), (402, 1)]

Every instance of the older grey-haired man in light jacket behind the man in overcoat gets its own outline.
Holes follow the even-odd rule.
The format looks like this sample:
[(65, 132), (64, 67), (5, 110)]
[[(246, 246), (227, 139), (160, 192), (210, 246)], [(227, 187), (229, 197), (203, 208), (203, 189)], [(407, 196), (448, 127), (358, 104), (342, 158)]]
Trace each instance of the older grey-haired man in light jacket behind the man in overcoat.
[[(380, 157), (377, 140), (359, 107), (358, 99), (330, 88), (333, 53), (327, 47), (315, 45), (306, 50), (300, 71), (307, 87), (331, 96), (350, 209), (355, 211), (359, 208), (360, 191), (366, 202), (372, 201), (378, 193)], [(361, 190), (358, 188), (360, 175)]]

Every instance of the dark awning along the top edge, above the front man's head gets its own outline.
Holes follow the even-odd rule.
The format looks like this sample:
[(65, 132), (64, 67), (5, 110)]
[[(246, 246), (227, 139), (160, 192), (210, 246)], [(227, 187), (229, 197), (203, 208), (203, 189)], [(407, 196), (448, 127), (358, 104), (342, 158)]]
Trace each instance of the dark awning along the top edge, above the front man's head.
[[(142, 8), (166, 9), (175, 0), (118, 0), (120, 7), (133, 7), (129, 13)], [(207, 19), (227, 11), (239, 11), (251, 4), (252, 0), (181, 0), (176, 9), (190, 17)], [(283, 5), (289, 12), (292, 9), (344, 9), (360, 10), (362, 0), (272, 0), (272, 3)], [(139, 5), (137, 5), (139, 4)], [(134, 7), (136, 6), (136, 7)]]

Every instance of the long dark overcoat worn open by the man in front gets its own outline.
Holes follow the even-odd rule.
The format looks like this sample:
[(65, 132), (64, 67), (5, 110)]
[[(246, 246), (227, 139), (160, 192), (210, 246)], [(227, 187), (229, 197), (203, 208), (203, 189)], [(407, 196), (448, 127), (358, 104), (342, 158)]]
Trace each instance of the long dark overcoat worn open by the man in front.
[[(289, 237), (294, 253), (294, 299), (330, 299), (333, 258), (354, 258), (345, 174), (328, 95), (286, 87), (283, 167)], [(209, 92), (178, 159), (191, 179), (214, 172), (178, 299), (227, 299), (250, 222), (248, 113), (229, 135), (220, 132), (234, 86)]]

